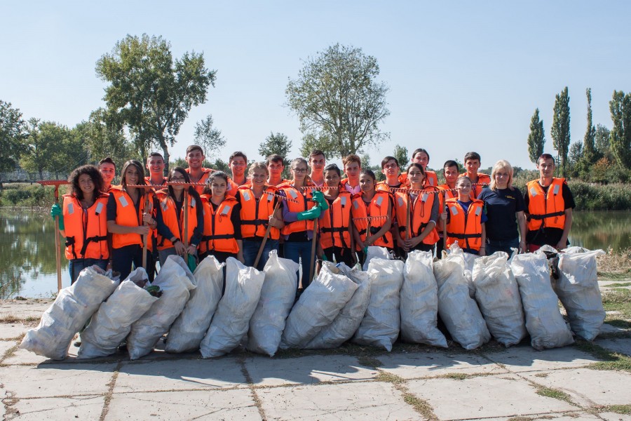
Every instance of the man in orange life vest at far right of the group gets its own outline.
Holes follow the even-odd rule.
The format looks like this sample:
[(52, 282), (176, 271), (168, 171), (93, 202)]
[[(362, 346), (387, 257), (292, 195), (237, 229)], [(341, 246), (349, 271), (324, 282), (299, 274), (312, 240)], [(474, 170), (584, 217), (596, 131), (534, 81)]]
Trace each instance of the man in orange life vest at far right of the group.
[(564, 178), (555, 178), (555, 159), (541, 154), (537, 160), (539, 179), (526, 184), (524, 205), (528, 232), (526, 243), (533, 252), (548, 244), (561, 250), (569, 244), (574, 196)]

